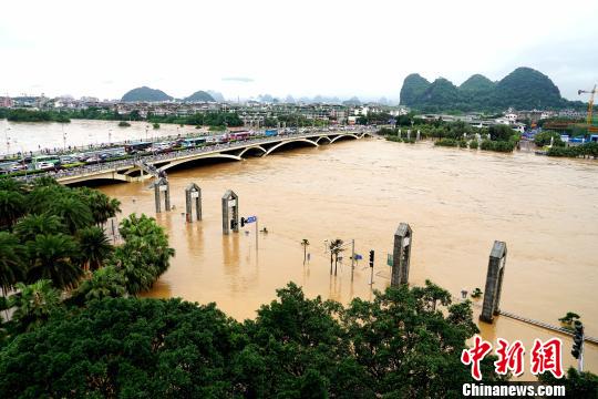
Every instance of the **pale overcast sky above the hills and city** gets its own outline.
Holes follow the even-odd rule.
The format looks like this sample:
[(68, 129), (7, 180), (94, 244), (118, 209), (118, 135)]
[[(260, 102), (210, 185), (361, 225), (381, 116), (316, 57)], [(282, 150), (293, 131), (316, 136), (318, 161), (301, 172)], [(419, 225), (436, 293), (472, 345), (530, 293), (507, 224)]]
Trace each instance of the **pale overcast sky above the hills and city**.
[(336, 95), (398, 100), (405, 75), (535, 68), (598, 82), (598, 1), (6, 1), (0, 95)]

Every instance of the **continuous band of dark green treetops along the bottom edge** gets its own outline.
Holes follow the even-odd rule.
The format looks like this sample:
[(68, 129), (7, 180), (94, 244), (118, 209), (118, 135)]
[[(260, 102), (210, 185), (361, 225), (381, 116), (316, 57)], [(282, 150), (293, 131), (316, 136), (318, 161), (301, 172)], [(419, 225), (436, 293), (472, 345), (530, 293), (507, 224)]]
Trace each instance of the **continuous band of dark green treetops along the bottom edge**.
[[(430, 282), (347, 308), (291, 283), (239, 324), (214, 305), (112, 298), (118, 276), (96, 272), (75, 293), (85, 307), (44, 310), (33, 318), (44, 325), (11, 338), (1, 397), (445, 398), (473, 382), (460, 360), (477, 332), (471, 303)], [(504, 379), (493, 360), (485, 381)]]

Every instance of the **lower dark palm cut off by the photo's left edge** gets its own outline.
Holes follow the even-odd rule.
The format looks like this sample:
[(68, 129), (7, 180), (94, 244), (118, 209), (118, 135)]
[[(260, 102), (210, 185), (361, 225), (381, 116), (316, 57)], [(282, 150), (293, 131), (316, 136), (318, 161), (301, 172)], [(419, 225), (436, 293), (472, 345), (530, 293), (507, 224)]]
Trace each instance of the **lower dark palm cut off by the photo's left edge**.
[(7, 232), (0, 232), (0, 288), (7, 295), (17, 282), (24, 277), (24, 248), (19, 239)]

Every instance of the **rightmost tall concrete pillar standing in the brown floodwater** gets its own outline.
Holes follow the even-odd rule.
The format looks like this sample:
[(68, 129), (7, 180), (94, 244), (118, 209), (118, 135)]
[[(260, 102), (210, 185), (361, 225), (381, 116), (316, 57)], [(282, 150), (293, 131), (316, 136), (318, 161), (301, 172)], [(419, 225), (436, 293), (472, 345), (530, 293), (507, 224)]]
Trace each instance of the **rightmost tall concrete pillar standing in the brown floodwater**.
[(493, 323), (494, 316), (501, 313), (501, 291), (503, 290), (503, 276), (505, 274), (507, 248), (503, 242), (495, 241), (488, 260), (486, 274), (486, 288), (480, 320)]

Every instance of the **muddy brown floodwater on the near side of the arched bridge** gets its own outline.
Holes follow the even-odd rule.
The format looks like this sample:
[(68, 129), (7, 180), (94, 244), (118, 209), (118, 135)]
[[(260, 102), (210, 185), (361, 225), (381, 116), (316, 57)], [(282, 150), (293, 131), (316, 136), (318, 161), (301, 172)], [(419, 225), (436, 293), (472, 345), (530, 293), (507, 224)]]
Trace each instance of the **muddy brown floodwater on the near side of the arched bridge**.
[[(501, 308), (553, 325), (576, 311), (586, 332), (598, 337), (595, 161), (360, 140), (173, 171), (169, 182), (176, 208), (158, 215), (147, 182), (102, 187), (122, 201), (123, 216), (156, 216), (176, 249), (169, 270), (146, 296), (215, 301), (237, 319), (255, 317), (288, 282), (309, 296), (343, 304), (371, 298), (368, 252), (377, 254), (373, 287), (383, 289), (393, 233), (408, 222), (414, 232), (412, 284), (429, 278), (455, 297), (463, 288), (484, 289), (493, 242), (504, 241), (508, 257)], [(186, 224), (184, 188), (190, 182), (203, 190), (204, 221)], [(254, 225), (221, 234), (220, 197), (227, 188), (239, 195), (240, 214), (257, 215), (260, 228), (269, 231), (259, 234), (257, 253)], [(302, 238), (311, 243), (311, 262), (305, 266)], [(324, 241), (333, 238), (354, 238), (364, 257), (353, 280), (347, 260), (338, 276), (329, 275)], [(481, 329), (486, 339), (522, 339), (528, 350), (534, 338), (554, 336), (505, 317)], [(564, 364), (574, 365), (571, 339), (561, 338)], [(598, 347), (586, 345), (585, 360), (596, 372)]]

